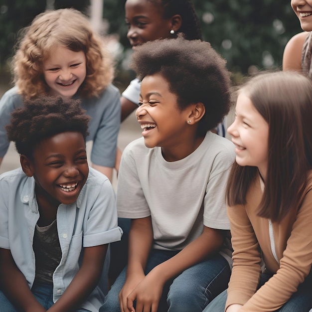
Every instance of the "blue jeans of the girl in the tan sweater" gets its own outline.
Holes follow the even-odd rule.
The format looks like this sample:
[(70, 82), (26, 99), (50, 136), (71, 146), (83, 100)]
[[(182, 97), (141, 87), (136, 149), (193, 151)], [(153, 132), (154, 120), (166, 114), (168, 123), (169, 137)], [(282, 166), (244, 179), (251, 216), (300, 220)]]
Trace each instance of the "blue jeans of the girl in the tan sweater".
[[(297, 292), (293, 294), (289, 301), (280, 309), (276, 310), (276, 312), (308, 312), (310, 310), (312, 307), (312, 284), (310, 276), (298, 287)], [(261, 274), (258, 289), (271, 277), (272, 275), (270, 274)], [(224, 312), (226, 299), (227, 290), (217, 296), (203, 312)]]

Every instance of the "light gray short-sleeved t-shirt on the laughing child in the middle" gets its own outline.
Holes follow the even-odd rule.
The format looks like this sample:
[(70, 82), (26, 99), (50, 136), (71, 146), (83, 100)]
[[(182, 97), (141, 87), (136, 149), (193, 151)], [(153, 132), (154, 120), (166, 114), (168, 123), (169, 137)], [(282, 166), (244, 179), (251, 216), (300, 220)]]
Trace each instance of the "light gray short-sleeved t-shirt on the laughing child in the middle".
[(144, 138), (135, 140), (121, 160), (118, 216), (151, 216), (153, 247), (163, 250), (183, 249), (204, 225), (229, 230), (225, 188), (234, 159), (234, 145), (211, 132), (192, 154), (173, 162), (164, 160), (161, 148), (147, 148)]

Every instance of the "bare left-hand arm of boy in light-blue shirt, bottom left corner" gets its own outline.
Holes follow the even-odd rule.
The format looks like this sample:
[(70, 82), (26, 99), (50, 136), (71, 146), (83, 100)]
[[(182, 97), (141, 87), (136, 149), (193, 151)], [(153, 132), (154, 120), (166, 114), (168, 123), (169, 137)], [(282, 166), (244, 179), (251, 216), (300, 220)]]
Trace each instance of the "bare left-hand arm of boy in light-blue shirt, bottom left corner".
[(31, 293), (9, 249), (0, 248), (0, 274), (1, 290), (17, 309), (25, 312), (46, 311)]

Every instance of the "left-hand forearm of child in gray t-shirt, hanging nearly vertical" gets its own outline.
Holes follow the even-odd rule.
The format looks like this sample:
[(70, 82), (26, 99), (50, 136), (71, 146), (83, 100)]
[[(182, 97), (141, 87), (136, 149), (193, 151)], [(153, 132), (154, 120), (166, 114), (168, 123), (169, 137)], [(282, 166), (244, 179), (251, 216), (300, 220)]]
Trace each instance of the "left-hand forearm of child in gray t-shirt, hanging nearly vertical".
[(127, 276), (143, 273), (153, 243), (151, 217), (133, 219), (129, 232)]

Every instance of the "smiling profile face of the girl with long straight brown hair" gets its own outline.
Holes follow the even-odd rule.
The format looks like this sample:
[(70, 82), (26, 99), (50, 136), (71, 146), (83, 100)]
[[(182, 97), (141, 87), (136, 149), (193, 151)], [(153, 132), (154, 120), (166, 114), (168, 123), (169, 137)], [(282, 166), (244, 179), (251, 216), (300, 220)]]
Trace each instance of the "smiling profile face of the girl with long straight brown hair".
[(238, 95), (235, 120), (227, 131), (236, 146), (236, 162), (241, 166), (258, 167), (265, 179), (268, 166), (269, 125), (244, 92)]

